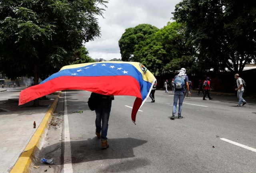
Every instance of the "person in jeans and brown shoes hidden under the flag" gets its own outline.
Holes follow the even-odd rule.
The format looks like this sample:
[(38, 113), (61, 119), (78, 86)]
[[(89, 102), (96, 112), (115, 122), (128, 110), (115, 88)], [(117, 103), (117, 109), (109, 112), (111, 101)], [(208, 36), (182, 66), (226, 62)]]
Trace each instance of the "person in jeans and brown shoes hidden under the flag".
[(108, 134), (108, 120), (110, 116), (112, 100), (114, 100), (114, 96), (108, 96), (103, 94), (97, 94), (92, 92), (91, 97), (94, 97), (97, 100), (97, 108), (95, 109), (96, 113), (96, 136), (98, 139), (101, 139), (101, 149), (106, 149), (109, 147), (107, 141)]

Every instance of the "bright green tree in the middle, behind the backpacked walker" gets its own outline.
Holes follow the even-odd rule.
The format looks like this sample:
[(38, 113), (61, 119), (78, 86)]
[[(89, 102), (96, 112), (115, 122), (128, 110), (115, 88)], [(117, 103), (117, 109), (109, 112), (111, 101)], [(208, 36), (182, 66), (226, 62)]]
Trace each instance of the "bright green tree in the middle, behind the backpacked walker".
[(150, 71), (162, 74), (176, 71), (181, 67), (191, 69), (195, 59), (194, 52), (193, 47), (185, 40), (184, 26), (168, 22), (151, 38), (135, 46), (132, 59), (142, 62)]

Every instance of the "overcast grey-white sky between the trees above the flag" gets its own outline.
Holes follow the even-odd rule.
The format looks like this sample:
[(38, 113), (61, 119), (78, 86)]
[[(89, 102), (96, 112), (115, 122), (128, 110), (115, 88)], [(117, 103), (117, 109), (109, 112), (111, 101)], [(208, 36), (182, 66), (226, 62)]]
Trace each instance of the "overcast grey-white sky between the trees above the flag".
[(125, 29), (139, 24), (163, 28), (181, 0), (110, 0), (104, 19), (98, 17), (101, 37), (85, 44), (92, 59), (121, 58), (118, 40)]

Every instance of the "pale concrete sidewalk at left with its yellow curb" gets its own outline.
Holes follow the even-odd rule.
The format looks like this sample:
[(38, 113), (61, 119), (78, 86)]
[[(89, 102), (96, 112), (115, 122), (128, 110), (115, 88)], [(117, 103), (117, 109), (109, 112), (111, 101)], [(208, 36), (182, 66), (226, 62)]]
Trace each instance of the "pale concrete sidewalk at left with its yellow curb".
[[(40, 149), (40, 140), (47, 132), (48, 124), (61, 92), (18, 107), (20, 91), (24, 87), (0, 88), (0, 172), (30, 172), (30, 164)], [(34, 121), (36, 128), (34, 128)]]

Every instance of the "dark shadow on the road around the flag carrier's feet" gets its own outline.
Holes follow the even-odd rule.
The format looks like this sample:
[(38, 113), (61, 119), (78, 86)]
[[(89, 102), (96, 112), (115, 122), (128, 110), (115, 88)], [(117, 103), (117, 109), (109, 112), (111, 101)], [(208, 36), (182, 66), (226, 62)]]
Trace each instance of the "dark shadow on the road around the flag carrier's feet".
[[(145, 140), (138, 140), (134, 138), (108, 139), (110, 147), (107, 149), (100, 149), (100, 142), (101, 140), (97, 139), (96, 137), (92, 139), (89, 138), (83, 141), (71, 141), (70, 144), (72, 163), (135, 157), (133, 153), (133, 148), (147, 143), (147, 141)], [(58, 150), (60, 147), (64, 148), (64, 142), (59, 142), (53, 145), (46, 146), (40, 149), (39, 152), (45, 153), (45, 158), (53, 158), (55, 151)], [(35, 165), (44, 165), (44, 163), (40, 163), (38, 160), (35, 162)], [(147, 164), (147, 161), (144, 160), (143, 162), (143, 165)], [(55, 164), (60, 164), (60, 161), (56, 161)], [(130, 164), (134, 166), (134, 163)]]

